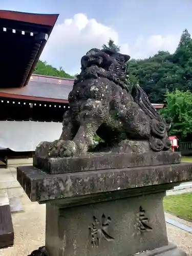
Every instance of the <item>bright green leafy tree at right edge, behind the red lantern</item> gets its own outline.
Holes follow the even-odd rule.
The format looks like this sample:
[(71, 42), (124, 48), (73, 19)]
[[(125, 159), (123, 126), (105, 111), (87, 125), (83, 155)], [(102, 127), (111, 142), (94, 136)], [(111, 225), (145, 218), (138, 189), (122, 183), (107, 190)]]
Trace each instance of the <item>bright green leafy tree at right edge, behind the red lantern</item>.
[(184, 139), (192, 131), (192, 93), (178, 89), (175, 92), (166, 92), (166, 107), (161, 110), (163, 117), (171, 117), (173, 125), (170, 135)]

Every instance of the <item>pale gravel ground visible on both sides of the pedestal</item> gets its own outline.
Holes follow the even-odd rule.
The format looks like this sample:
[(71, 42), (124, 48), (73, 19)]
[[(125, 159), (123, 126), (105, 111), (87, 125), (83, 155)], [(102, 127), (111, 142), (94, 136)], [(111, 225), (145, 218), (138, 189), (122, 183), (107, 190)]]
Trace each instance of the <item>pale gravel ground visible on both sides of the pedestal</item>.
[[(27, 256), (31, 251), (45, 244), (45, 205), (32, 203), (26, 195), (22, 197), (22, 204), (24, 211), (12, 214), (14, 246), (1, 249), (0, 256)], [(187, 225), (185, 221), (182, 223)], [(170, 242), (185, 250), (188, 256), (192, 256), (192, 234), (170, 224), (167, 224), (167, 232)]]

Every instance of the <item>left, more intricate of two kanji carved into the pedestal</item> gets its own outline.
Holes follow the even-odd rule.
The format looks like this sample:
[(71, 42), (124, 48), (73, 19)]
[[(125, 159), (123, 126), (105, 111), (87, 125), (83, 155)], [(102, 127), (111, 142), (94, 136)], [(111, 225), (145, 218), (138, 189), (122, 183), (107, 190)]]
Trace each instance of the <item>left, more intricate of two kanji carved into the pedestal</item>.
[(110, 222), (111, 222), (111, 218), (110, 217), (106, 218), (104, 214), (101, 217), (101, 221), (99, 221), (99, 219), (93, 216), (92, 227), (89, 228), (90, 234), (92, 237), (92, 240), (91, 240), (92, 246), (99, 246), (100, 240), (102, 237), (107, 241), (114, 240), (114, 238), (110, 236), (108, 231)]

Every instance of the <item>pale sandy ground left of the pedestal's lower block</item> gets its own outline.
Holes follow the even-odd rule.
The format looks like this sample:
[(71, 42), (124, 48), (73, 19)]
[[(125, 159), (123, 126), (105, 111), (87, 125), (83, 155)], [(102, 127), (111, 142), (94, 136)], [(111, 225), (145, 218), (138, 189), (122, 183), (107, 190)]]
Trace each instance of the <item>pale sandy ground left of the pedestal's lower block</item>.
[(45, 205), (32, 203), (25, 194), (21, 199), (24, 211), (12, 214), (14, 246), (0, 249), (0, 256), (27, 256), (45, 244)]

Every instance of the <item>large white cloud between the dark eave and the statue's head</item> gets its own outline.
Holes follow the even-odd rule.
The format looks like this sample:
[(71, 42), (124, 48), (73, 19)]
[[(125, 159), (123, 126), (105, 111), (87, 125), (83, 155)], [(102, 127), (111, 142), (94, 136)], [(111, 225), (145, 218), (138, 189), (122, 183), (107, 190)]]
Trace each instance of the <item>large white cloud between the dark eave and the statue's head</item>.
[(109, 37), (118, 42), (115, 30), (78, 13), (55, 25), (41, 58), (73, 74), (80, 70), (80, 58), (91, 48), (101, 48)]

